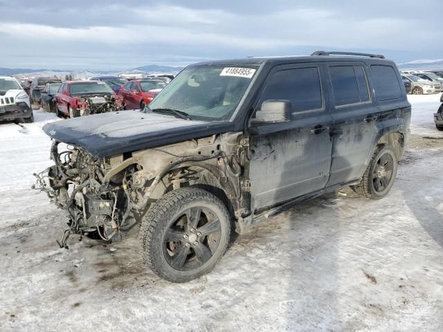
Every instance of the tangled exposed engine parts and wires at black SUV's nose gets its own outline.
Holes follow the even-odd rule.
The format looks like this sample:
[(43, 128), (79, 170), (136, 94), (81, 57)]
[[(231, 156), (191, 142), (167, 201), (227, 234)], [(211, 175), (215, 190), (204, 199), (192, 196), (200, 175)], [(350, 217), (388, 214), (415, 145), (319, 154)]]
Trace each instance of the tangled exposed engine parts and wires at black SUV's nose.
[(109, 241), (120, 234), (127, 221), (129, 192), (123, 187), (128, 187), (134, 167), (116, 174), (104, 185), (105, 174), (111, 169), (109, 158), (93, 158), (87, 151), (71, 145), (59, 152), (59, 145), (54, 140), (51, 147), (55, 165), (35, 176), (37, 187), (68, 214), (69, 228), (59, 242), (60, 247), (67, 248), (70, 234), (93, 234)]

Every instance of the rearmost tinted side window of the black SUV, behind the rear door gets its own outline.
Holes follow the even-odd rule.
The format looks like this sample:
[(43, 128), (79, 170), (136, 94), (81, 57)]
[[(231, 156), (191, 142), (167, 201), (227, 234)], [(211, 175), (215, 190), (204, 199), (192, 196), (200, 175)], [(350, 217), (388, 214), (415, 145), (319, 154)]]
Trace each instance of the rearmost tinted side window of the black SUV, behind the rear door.
[(391, 66), (371, 66), (372, 84), (377, 100), (390, 100), (401, 97), (397, 75)]

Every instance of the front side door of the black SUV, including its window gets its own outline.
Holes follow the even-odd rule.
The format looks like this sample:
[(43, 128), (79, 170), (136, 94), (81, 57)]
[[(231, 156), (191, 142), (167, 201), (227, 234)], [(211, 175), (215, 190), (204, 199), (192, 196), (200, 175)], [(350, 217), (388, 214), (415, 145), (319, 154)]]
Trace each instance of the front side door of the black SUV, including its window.
[(323, 97), (320, 66), (277, 66), (257, 102), (289, 100), (292, 120), (251, 128), (253, 210), (323, 189), (329, 178), (333, 120)]

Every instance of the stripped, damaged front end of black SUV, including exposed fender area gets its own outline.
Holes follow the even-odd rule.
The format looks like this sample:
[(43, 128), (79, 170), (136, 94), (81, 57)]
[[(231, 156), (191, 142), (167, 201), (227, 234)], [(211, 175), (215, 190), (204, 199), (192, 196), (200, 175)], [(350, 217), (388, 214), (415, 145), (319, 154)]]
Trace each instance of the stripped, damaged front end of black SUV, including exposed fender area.
[[(33, 187), (66, 211), (69, 227), (57, 241), (61, 248), (68, 248), (71, 234), (121, 239), (152, 203), (178, 187), (219, 188), (237, 221), (246, 221), (243, 218), (251, 212), (250, 192), (243, 185), (248, 172), (244, 147), (244, 140), (233, 134), (95, 158), (80, 147), (54, 140), (55, 165), (34, 174)], [(237, 224), (237, 231), (243, 226)]]

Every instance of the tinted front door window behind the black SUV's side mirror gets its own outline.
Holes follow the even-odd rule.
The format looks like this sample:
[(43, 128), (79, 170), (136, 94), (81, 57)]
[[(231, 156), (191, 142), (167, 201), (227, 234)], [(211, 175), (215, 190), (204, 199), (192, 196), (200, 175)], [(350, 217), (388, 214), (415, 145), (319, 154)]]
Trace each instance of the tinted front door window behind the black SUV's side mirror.
[(296, 68), (274, 73), (266, 85), (262, 102), (270, 99), (290, 100), (293, 112), (323, 107), (317, 68)]

